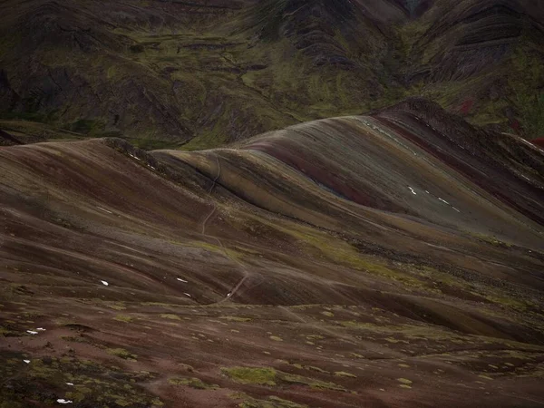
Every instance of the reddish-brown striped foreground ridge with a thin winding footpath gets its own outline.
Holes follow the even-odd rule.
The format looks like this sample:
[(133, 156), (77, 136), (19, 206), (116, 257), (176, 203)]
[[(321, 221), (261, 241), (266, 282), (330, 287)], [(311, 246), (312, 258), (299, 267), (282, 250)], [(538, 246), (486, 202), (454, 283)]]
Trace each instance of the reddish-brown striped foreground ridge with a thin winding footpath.
[(418, 98), (2, 147), (0, 402), (537, 407), (543, 159)]

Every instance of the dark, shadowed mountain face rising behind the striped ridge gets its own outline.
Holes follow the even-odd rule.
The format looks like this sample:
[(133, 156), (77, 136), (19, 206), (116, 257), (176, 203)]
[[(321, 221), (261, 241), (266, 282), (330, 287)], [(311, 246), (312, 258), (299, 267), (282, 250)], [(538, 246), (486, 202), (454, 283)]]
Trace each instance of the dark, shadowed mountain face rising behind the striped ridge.
[(0, 12), (5, 120), (199, 149), (421, 95), (496, 130), (544, 126), (537, 1), (9, 0)]

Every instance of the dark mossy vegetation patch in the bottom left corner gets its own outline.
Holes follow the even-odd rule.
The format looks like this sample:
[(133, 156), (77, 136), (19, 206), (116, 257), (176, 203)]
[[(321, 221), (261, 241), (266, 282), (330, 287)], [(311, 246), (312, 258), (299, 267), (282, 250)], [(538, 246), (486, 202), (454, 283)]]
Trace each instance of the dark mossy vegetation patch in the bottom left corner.
[[(23, 362), (30, 360), (29, 364)], [(57, 398), (85, 406), (163, 406), (159, 398), (145, 391), (139, 383), (156, 374), (125, 372), (120, 368), (73, 357), (41, 357), (2, 353), (0, 407), (23, 408), (31, 400), (53, 406)], [(73, 385), (68, 385), (71, 383)], [(50, 393), (49, 390), (57, 390)]]

